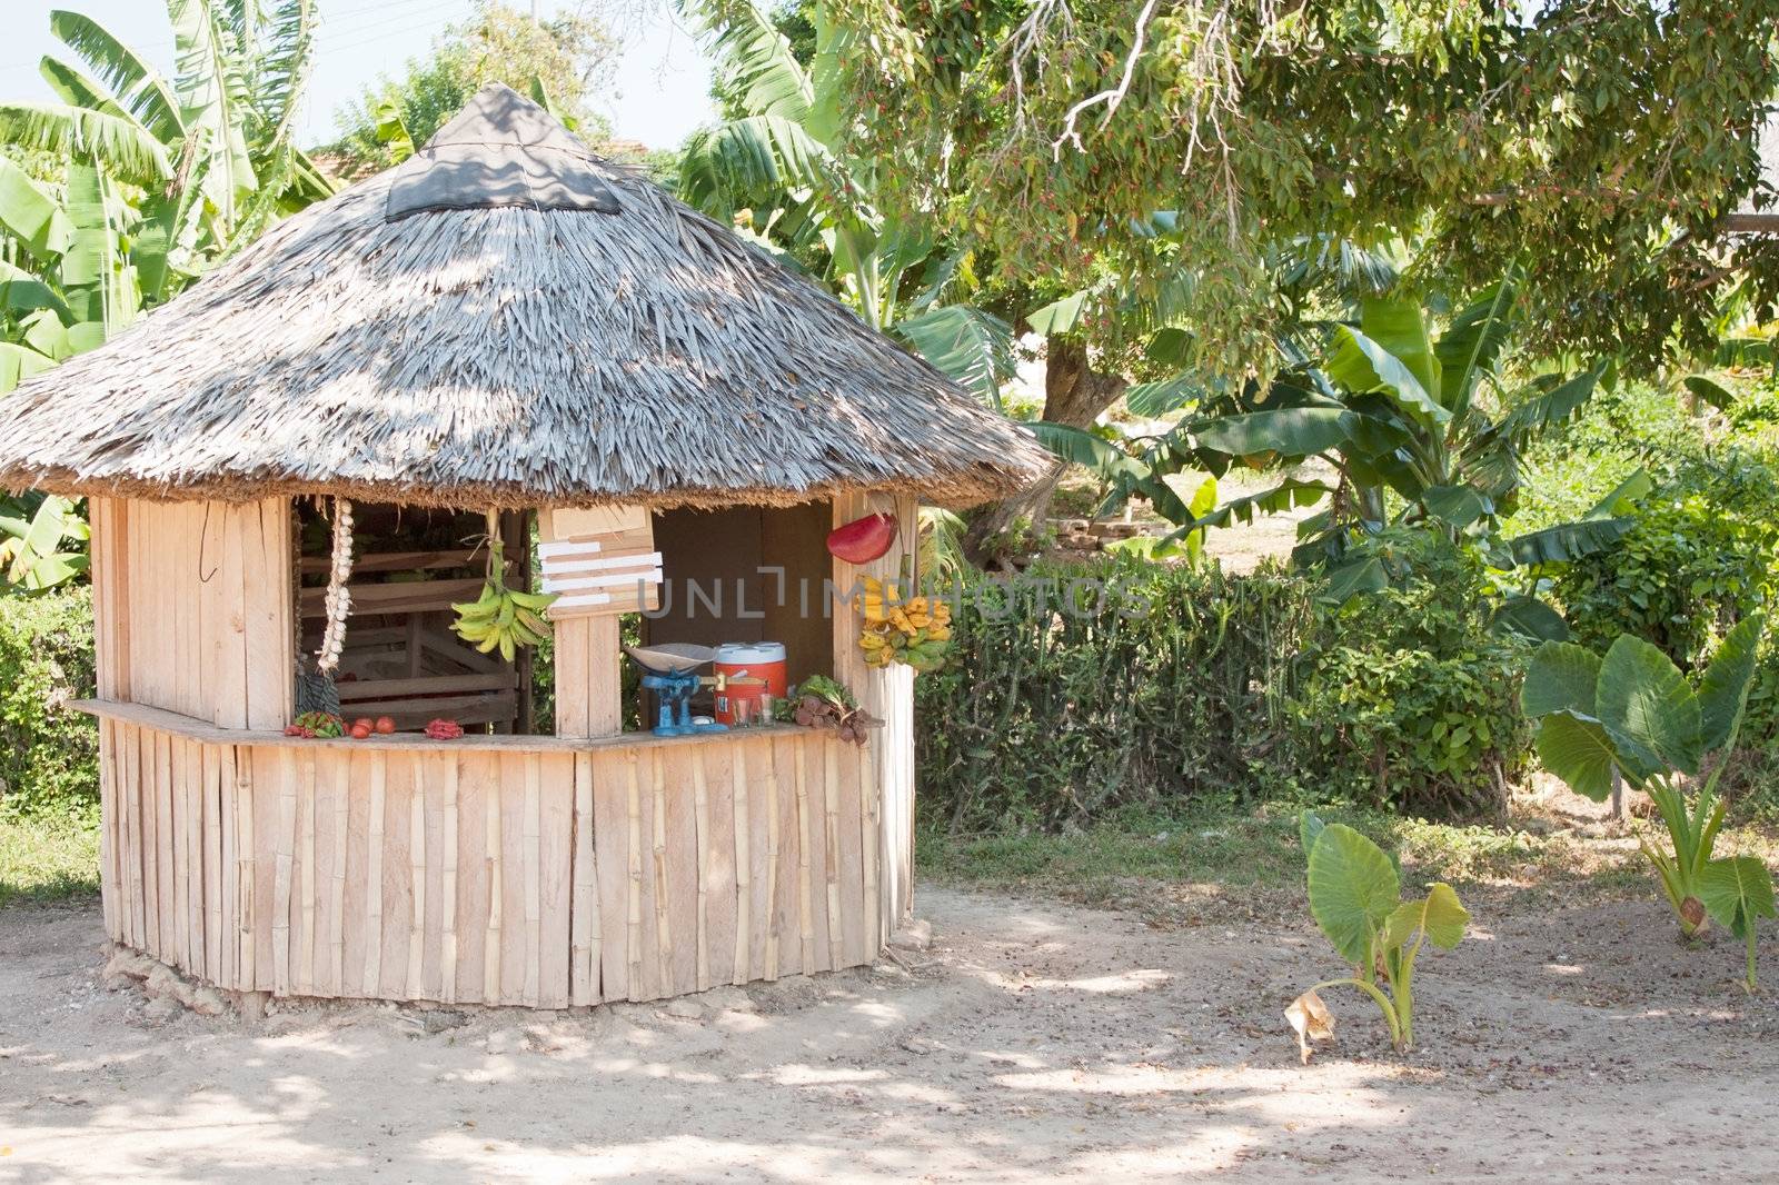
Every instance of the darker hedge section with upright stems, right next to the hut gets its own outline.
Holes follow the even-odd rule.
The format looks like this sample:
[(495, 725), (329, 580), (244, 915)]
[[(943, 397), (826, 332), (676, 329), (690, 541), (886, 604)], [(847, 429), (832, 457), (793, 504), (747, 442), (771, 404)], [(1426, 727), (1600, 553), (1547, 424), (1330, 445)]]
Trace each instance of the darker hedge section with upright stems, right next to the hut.
[[(1096, 598), (1092, 582), (1115, 594)], [(927, 817), (1055, 827), (1131, 802), (1251, 795), (1256, 770), (1283, 767), (1281, 699), (1309, 605), (1311, 585), (1279, 571), (1130, 557), (1016, 584), (966, 576), (957, 662), (914, 681)]]

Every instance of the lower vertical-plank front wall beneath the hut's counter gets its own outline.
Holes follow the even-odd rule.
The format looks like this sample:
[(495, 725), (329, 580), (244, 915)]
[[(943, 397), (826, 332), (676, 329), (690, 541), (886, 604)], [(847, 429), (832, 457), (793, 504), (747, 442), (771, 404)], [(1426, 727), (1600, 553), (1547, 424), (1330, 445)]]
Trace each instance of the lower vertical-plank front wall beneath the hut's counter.
[(879, 950), (868, 751), (208, 744), (101, 724), (107, 925), (242, 991), (569, 1007)]

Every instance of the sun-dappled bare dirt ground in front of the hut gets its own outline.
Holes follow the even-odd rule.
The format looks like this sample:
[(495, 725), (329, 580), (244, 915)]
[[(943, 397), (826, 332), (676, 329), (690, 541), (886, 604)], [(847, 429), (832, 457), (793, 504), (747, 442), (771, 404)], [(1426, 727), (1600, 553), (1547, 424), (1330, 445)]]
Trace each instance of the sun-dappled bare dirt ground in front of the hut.
[(1649, 902), (1478, 909), (1423, 959), (1423, 1052), (1331, 993), (1341, 1041), (1309, 1068), (1279, 1009), (1336, 966), (1295, 918), (920, 907), (906, 970), (253, 1030), (107, 989), (94, 906), (0, 911), (0, 1180), (1779, 1178), (1779, 1007)]

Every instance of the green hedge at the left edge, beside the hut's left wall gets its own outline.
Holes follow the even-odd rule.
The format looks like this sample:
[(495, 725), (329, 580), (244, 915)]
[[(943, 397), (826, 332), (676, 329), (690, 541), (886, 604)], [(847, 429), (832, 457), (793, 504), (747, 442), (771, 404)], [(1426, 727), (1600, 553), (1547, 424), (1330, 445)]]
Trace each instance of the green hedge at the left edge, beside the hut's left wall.
[(0, 815), (98, 813), (89, 589), (0, 598)]

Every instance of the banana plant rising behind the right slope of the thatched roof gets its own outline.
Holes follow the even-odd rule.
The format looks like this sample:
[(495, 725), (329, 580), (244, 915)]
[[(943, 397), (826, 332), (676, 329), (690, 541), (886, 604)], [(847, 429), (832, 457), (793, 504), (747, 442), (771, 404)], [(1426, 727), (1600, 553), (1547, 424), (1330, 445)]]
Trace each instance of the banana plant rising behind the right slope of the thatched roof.
[(815, 55), (804, 64), (760, 0), (680, 0), (680, 9), (703, 30), (731, 112), (687, 141), (680, 198), (820, 274), (868, 326), (998, 406), (1016, 368), (1012, 327), (939, 299), (955, 260), (930, 233), (884, 219), (872, 164), (847, 151), (840, 60), (856, 52), (856, 34), (815, 4)]

